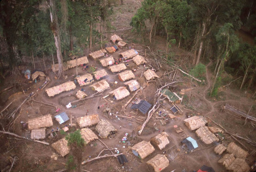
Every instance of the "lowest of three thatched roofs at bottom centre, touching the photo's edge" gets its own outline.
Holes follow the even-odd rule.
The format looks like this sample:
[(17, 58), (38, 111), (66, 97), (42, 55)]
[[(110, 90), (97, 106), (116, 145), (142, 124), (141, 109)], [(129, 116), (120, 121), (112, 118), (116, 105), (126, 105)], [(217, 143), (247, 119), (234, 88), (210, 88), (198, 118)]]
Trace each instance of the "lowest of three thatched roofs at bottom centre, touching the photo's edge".
[(165, 155), (157, 154), (154, 158), (146, 162), (148, 165), (151, 165), (154, 168), (155, 172), (159, 172), (169, 166), (169, 160)]

